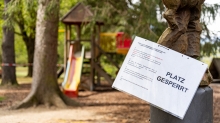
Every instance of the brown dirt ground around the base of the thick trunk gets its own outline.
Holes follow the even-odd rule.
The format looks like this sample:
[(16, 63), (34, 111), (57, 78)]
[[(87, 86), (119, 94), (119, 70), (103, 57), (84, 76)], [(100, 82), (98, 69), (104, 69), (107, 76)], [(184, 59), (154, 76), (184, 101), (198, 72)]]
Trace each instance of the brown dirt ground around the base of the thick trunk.
[[(220, 122), (220, 84), (211, 84), (214, 90), (214, 123)], [(0, 87), (0, 122), (4, 123), (149, 123), (149, 104), (113, 89), (80, 91), (75, 100), (82, 106), (68, 108), (37, 108), (8, 110), (24, 99), (30, 84)]]

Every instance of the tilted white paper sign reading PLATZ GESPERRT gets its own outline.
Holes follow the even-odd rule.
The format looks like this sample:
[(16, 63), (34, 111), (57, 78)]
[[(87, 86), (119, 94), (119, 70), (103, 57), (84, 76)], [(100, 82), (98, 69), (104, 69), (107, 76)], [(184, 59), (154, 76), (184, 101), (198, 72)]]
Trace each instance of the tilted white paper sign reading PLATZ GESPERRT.
[(135, 37), (112, 87), (183, 119), (206, 69), (198, 60)]

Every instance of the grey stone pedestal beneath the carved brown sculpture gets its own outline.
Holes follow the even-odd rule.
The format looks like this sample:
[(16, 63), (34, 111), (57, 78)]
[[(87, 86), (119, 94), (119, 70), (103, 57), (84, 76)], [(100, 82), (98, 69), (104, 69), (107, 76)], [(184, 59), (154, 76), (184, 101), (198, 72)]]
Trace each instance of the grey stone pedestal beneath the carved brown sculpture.
[(151, 123), (212, 123), (213, 122), (213, 90), (199, 87), (183, 120), (150, 106)]

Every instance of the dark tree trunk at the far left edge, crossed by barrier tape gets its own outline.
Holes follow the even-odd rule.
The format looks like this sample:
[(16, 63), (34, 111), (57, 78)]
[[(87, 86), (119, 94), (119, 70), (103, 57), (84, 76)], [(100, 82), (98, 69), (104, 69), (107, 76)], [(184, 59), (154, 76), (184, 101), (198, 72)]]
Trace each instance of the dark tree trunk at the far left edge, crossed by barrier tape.
[[(7, 3), (10, 0), (5, 0), (5, 10)], [(4, 16), (4, 19), (7, 19)], [(14, 47), (14, 29), (3, 26), (3, 41), (2, 41), (2, 63), (15, 63), (15, 47)], [(2, 66), (2, 82), (1, 85), (18, 84), (15, 74), (15, 66)]]

